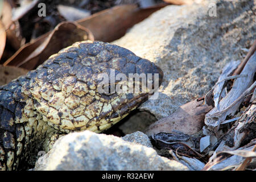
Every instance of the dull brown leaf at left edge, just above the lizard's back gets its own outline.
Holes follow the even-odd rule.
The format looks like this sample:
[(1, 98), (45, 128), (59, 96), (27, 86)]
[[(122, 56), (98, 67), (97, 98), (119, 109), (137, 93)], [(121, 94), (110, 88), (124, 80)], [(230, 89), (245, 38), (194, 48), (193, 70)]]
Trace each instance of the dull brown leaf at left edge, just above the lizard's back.
[(25, 75), (27, 72), (27, 69), (9, 66), (3, 67), (3, 65), (0, 65), (0, 85), (5, 85), (14, 78)]

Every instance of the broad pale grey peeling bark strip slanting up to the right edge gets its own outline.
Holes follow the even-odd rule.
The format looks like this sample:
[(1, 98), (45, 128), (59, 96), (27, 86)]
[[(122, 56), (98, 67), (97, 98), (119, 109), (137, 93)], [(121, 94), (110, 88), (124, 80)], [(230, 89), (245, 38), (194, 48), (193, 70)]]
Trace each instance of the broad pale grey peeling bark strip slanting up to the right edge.
[(247, 75), (246, 77), (237, 78), (234, 82), (233, 88), (227, 94), (225, 98), (220, 101), (220, 110), (214, 107), (205, 115), (205, 125), (212, 131), (217, 131), (221, 122), (224, 122), (228, 115), (234, 115), (240, 106), (243, 92), (249, 88), (253, 82), (254, 74), (256, 72), (256, 52), (250, 57), (246, 63), (241, 75)]

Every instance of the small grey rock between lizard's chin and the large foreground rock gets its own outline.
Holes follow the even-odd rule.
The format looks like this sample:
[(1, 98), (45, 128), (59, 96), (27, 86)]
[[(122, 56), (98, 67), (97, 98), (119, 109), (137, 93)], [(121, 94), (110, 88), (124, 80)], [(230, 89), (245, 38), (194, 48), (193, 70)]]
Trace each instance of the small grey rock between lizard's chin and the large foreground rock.
[(122, 139), (127, 142), (142, 144), (143, 146), (153, 148), (150, 139), (147, 137), (146, 134), (142, 133), (141, 131), (136, 131), (134, 133), (127, 134), (125, 135), (125, 137), (122, 137)]

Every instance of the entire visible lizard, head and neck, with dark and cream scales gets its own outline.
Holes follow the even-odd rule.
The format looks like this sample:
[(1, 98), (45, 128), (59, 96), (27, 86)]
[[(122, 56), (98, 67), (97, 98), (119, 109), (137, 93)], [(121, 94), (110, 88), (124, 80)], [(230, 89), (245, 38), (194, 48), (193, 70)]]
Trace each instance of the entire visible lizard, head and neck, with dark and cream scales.
[(149, 93), (100, 94), (99, 73), (160, 73), (153, 63), (108, 43), (77, 42), (26, 76), (0, 86), (0, 169), (31, 168), (38, 151), (71, 131), (100, 133), (146, 101)]

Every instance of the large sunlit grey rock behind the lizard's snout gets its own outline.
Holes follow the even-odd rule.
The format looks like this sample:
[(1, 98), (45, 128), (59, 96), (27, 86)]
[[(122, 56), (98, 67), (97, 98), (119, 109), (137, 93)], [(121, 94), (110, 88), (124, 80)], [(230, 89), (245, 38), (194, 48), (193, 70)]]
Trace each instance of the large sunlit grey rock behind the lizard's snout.
[[(210, 2), (216, 3), (216, 13)], [(157, 100), (141, 105), (157, 119), (204, 96), (230, 60), (242, 60), (256, 38), (253, 0), (170, 5), (113, 42), (159, 65), (164, 72)]]

